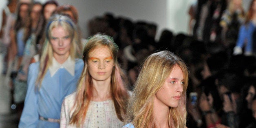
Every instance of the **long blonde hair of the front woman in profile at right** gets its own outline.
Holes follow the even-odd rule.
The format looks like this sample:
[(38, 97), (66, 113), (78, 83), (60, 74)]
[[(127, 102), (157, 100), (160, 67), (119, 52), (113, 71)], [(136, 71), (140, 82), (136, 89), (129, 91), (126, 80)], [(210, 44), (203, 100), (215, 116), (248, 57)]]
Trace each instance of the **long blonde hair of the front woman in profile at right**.
[(168, 125), (172, 128), (184, 128), (186, 124), (186, 90), (188, 87), (188, 69), (183, 60), (170, 51), (153, 53), (145, 60), (128, 104), (126, 123), (136, 128), (153, 128), (154, 95), (163, 86), (174, 65), (178, 65), (184, 77), (184, 86), (179, 106), (169, 108)]

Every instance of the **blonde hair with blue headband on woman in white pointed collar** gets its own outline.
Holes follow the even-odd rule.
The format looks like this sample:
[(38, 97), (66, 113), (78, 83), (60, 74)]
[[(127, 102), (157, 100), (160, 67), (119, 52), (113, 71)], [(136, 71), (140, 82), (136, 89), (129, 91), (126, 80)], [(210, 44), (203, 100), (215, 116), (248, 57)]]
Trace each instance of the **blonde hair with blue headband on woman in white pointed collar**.
[(48, 24), (46, 25), (46, 40), (42, 47), (42, 55), (40, 57), (40, 71), (36, 81), (36, 86), (40, 88), (44, 75), (46, 74), (49, 66), (52, 64), (53, 59), (53, 48), (50, 43), (49, 37), (51, 36), (51, 30), (58, 26), (62, 26), (65, 31), (71, 35), (71, 48), (70, 56), (72, 60), (75, 60), (75, 57), (79, 58), (82, 55), (82, 44), (81, 40), (77, 35), (77, 27), (74, 22), (64, 15), (52, 15), (49, 19)]

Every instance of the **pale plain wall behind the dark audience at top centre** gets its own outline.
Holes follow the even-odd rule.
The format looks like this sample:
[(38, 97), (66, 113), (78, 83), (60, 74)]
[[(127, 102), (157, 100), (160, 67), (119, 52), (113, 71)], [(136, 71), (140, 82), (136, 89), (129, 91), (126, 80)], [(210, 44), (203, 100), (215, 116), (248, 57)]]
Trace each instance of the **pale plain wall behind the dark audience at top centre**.
[(87, 22), (105, 12), (125, 16), (133, 21), (146, 20), (158, 25), (157, 37), (163, 29), (174, 33), (187, 32), (189, 0), (57, 0), (60, 5), (72, 4), (79, 11), (79, 26), (88, 36)]

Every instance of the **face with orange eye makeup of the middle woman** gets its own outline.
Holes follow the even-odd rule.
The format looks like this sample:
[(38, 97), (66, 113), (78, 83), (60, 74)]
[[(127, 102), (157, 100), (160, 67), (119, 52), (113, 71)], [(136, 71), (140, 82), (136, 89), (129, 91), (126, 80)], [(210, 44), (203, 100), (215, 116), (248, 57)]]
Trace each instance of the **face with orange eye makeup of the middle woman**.
[(88, 54), (88, 71), (92, 79), (104, 81), (111, 78), (114, 60), (108, 46), (99, 46)]

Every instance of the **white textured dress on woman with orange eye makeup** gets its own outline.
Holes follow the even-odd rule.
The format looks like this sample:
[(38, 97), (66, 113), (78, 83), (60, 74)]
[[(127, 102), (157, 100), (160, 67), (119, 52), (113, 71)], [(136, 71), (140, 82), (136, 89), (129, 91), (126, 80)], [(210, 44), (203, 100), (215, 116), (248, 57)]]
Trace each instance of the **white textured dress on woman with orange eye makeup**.
[[(69, 124), (75, 96), (76, 93), (68, 95), (62, 103), (60, 128), (75, 128), (75, 125)], [(123, 122), (117, 118), (113, 100), (110, 99), (103, 102), (90, 102), (82, 128), (121, 128), (122, 126)]]

